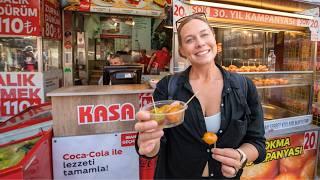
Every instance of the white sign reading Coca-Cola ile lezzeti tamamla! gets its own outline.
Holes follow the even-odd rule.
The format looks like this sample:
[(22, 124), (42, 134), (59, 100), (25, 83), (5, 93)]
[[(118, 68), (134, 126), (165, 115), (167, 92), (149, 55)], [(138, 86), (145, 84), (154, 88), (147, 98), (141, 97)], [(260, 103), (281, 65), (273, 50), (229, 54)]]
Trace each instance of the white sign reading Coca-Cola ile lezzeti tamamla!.
[(55, 179), (139, 179), (135, 132), (53, 138)]

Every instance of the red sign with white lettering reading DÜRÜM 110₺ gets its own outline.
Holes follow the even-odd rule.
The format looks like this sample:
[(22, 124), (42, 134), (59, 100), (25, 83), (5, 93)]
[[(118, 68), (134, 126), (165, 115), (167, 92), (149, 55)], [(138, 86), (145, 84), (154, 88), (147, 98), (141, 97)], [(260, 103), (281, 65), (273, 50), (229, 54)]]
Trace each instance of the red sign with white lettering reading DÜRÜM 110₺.
[(1, 0), (0, 35), (40, 36), (40, 0)]

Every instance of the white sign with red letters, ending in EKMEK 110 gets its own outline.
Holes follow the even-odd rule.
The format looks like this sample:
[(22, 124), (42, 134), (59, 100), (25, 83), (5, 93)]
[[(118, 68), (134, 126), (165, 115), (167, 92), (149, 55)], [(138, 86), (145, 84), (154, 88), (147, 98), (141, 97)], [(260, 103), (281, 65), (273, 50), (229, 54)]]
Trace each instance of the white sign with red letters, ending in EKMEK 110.
[(40, 73), (0, 73), (0, 119), (44, 100)]

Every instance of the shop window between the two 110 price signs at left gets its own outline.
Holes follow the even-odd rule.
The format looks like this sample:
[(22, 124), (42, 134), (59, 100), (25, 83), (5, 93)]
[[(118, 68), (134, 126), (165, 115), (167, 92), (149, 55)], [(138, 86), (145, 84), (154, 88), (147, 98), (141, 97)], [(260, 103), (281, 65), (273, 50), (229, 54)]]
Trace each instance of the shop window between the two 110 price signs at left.
[(1, 37), (0, 72), (38, 71), (37, 37)]

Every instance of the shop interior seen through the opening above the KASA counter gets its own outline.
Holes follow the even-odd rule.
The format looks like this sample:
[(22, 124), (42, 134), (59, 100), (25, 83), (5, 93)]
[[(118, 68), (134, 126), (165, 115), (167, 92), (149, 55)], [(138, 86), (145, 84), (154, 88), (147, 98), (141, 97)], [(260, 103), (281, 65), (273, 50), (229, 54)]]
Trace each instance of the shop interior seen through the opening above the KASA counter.
[(83, 12), (73, 12), (73, 19), (74, 79), (81, 80), (79, 85), (102, 84), (103, 69), (108, 65), (140, 65), (143, 74), (169, 72), (169, 63), (153, 72), (151, 65), (147, 71), (151, 57), (162, 47), (166, 46), (171, 56), (172, 29), (165, 27), (163, 19)]

